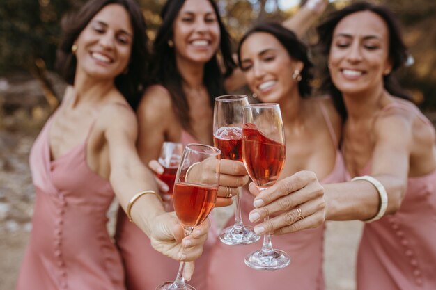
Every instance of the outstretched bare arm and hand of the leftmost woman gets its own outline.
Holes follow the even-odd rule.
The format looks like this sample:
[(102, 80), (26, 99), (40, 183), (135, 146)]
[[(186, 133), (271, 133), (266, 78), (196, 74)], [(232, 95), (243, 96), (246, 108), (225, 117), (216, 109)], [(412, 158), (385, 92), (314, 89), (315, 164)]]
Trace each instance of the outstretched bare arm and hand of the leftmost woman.
[[(113, 116), (117, 122), (111, 122)], [(126, 211), (132, 197), (141, 191), (157, 191), (151, 172), (137, 154), (137, 121), (134, 113), (123, 105), (113, 105), (104, 112), (104, 138), (109, 147), (110, 177), (112, 187), (121, 207)], [(183, 229), (174, 213), (166, 213), (158, 195), (146, 194), (132, 204), (133, 222), (150, 238), (155, 250), (183, 261), (200, 257), (207, 239), (209, 224), (203, 223), (193, 235), (183, 238)], [(192, 275), (192, 267), (185, 275)]]

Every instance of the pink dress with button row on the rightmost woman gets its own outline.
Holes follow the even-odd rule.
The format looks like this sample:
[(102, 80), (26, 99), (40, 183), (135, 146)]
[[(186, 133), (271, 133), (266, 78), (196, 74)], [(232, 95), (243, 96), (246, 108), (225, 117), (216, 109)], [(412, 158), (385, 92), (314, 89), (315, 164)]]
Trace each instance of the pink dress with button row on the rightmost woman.
[[(384, 107), (421, 112), (400, 103)], [(371, 162), (359, 172), (371, 175)], [(436, 170), (407, 180), (396, 214), (365, 224), (357, 256), (358, 290), (436, 289)]]

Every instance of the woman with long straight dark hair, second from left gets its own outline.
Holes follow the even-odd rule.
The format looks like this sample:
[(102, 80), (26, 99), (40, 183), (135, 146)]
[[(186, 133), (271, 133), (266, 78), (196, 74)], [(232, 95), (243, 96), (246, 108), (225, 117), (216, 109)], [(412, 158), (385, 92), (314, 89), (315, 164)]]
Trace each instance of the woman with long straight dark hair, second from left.
[[(325, 6), (325, 1), (315, 2), (312, 8)], [(304, 10), (306, 20), (318, 15), (309, 11), (312, 10)], [(155, 85), (147, 88), (137, 111), (137, 146), (144, 163), (158, 158), (164, 141), (212, 144), (215, 97), (245, 83), (244, 76), (233, 70), (235, 63), (229, 35), (215, 1), (167, 1), (161, 16), (150, 65)], [(242, 163), (222, 160), (221, 164), (217, 204), (225, 206), (232, 202), (227, 188), (235, 195), (237, 187), (247, 183), (248, 178)], [(127, 284), (132, 290), (153, 289), (162, 281), (173, 280), (174, 269), (178, 268), (176, 262), (146, 247), (143, 239), (144, 235), (120, 212), (116, 241), (125, 262)], [(212, 229), (208, 246), (196, 261), (196, 275), (190, 282), (198, 289), (207, 289), (203, 273), (208, 268), (209, 249), (216, 242), (216, 230)], [(156, 260), (159, 264), (150, 262)]]

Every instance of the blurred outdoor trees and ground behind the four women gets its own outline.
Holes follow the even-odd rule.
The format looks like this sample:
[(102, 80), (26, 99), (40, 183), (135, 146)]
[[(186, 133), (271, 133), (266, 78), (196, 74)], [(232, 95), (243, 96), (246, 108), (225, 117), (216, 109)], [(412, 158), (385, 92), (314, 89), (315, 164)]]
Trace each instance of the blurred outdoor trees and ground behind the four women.
[[(137, 0), (153, 40), (165, 0)], [(62, 15), (84, 0), (0, 1), (0, 289), (14, 289), (17, 269), (29, 238), (33, 186), (29, 150), (47, 116), (63, 94), (64, 83), (53, 72)], [(251, 24), (280, 21), (293, 15), (299, 0), (217, 0), (221, 16), (237, 44)], [(350, 0), (330, 1), (327, 13)], [(414, 102), (436, 121), (436, 1), (380, 0), (400, 19), (414, 64), (398, 72)], [(322, 20), (322, 18), (320, 20)], [(311, 29), (304, 37), (316, 42)], [(314, 82), (317, 86), (319, 81)], [(328, 290), (355, 289), (354, 259), (359, 222), (329, 223), (326, 236)]]

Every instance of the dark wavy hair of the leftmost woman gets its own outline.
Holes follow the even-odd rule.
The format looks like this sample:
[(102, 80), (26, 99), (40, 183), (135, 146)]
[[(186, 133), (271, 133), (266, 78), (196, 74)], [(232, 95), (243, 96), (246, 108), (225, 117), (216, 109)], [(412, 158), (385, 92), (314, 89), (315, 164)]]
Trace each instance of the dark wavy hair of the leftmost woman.
[(61, 25), (63, 38), (57, 51), (56, 70), (70, 85), (74, 84), (77, 60), (71, 47), (93, 17), (109, 4), (123, 6), (130, 15), (133, 28), (132, 54), (126, 74), (115, 78), (116, 88), (123, 94), (127, 102), (136, 109), (147, 83), (146, 64), (148, 63), (148, 47), (146, 23), (141, 8), (134, 0), (90, 0), (77, 11), (63, 17)]

